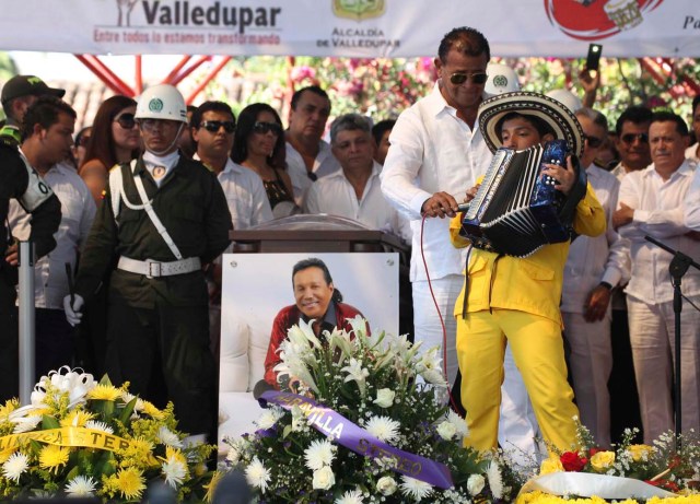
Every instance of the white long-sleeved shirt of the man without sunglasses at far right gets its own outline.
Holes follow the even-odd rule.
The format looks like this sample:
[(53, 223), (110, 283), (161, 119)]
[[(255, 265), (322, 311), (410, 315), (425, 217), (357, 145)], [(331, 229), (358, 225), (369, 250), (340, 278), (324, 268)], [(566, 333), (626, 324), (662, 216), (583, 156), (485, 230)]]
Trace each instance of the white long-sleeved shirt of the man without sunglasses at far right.
[[(686, 236), (690, 230), (684, 223), (684, 200), (692, 178), (692, 164), (686, 160), (666, 181), (653, 164), (622, 179), (618, 201), (634, 209), (633, 221), (619, 228), (630, 241), (632, 257), (632, 278), (625, 292), (644, 303), (673, 300), (668, 272), (673, 255), (646, 242), (645, 235), (691, 258), (700, 257), (700, 242)], [(686, 295), (700, 294), (700, 271), (690, 268), (681, 289)]]

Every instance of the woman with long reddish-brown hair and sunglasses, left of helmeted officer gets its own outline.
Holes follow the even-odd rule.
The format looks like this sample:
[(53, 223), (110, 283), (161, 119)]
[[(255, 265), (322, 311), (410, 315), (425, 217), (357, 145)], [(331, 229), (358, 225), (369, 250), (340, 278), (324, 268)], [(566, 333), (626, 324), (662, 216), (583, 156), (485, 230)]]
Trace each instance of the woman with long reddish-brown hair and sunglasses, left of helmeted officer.
[(109, 169), (139, 156), (141, 137), (135, 113), (136, 102), (121, 95), (105, 99), (97, 109), (85, 161), (78, 169), (97, 204), (102, 202)]

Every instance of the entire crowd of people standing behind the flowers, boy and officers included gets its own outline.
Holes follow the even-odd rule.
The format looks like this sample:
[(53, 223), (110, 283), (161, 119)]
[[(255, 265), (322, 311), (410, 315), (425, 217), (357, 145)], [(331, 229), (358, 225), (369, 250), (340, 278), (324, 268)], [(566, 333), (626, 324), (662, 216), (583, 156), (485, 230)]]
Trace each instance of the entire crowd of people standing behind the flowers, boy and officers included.
[[(438, 48), (433, 91), (376, 125), (361, 114), (328, 125), (332, 104), (315, 85), (293, 94), (284, 128), (268, 104), (236, 117), (223, 102), (186, 106), (160, 84), (136, 101), (106, 99), (75, 134), (62, 90), (14, 77), (2, 89), (0, 132), (5, 376), (19, 365), (16, 243), (31, 238), (37, 378), (80, 363), (130, 382), (156, 406), (173, 400), (183, 430), (212, 434), (230, 231), (335, 214), (411, 246), (413, 338), (443, 348), (467, 443), (537, 456), (544, 437), (567, 449), (574, 417), (603, 447), (635, 423), (650, 443), (674, 426), (675, 359), (682, 427), (697, 430), (700, 271), (682, 279), (675, 355), (674, 256), (645, 236), (700, 258), (700, 145), (690, 145), (700, 97), (692, 131), (673, 112), (642, 105), (606, 118), (595, 109), (594, 72), (582, 73), (582, 103), (568, 92), (516, 91), (514, 72), (490, 58), (481, 33), (453, 30)], [(545, 174), (562, 195), (571, 236), (525, 258), (479, 247), (464, 233), (460, 204), (478, 192), (493, 152), (557, 138), (574, 155)], [(289, 312), (300, 317), (304, 294), (296, 301)], [(272, 368), (266, 379), (275, 386)], [(0, 399), (16, 388), (3, 380)], [(617, 415), (620, 400), (626, 410), (634, 402), (639, 420)]]

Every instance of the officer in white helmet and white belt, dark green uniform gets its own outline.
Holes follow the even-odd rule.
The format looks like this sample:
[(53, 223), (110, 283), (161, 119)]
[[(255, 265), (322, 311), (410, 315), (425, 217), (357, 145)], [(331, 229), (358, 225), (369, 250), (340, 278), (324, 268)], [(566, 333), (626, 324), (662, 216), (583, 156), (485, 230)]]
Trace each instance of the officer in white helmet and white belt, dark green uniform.
[(218, 384), (202, 267), (229, 245), (231, 214), (214, 174), (177, 151), (187, 120), (182, 94), (167, 84), (148, 89), (136, 119), (145, 152), (110, 171), (66, 317), (80, 323), (84, 301), (112, 269), (109, 378), (129, 380), (132, 394), (159, 407), (172, 400), (183, 431), (213, 435)]

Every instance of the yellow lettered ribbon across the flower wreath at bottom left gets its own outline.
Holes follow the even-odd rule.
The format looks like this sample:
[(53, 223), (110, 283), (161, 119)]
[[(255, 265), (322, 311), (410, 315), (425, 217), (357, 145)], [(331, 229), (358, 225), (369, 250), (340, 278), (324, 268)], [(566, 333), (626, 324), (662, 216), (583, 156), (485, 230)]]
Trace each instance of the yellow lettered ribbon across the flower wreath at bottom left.
[[(96, 448), (109, 452), (118, 452), (131, 446), (131, 442), (128, 439), (103, 431), (85, 427), (60, 427), (10, 434), (9, 436), (0, 437), (0, 456), (8, 455), (8, 452), (14, 452), (23, 442), (32, 439), (48, 445), (80, 446), (83, 448)], [(151, 466), (160, 466), (160, 462), (152, 454), (148, 455), (148, 462)]]

